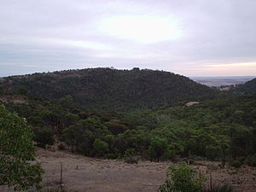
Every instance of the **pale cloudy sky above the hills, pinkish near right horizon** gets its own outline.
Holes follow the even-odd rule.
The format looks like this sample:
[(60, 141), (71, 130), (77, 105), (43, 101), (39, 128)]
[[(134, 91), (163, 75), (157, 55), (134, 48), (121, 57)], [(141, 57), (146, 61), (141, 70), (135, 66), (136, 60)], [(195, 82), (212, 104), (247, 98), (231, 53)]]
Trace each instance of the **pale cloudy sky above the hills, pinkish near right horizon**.
[(0, 0), (0, 77), (88, 67), (256, 75), (255, 0)]

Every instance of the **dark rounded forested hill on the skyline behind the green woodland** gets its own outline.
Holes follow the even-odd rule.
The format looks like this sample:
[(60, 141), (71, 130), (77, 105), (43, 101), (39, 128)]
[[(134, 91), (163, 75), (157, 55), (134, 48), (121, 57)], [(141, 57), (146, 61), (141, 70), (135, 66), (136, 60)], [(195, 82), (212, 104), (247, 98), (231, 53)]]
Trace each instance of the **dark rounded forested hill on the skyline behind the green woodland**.
[(184, 76), (139, 68), (89, 68), (7, 77), (0, 79), (0, 93), (42, 100), (73, 96), (74, 102), (84, 108), (112, 110), (160, 108), (218, 95), (217, 90)]

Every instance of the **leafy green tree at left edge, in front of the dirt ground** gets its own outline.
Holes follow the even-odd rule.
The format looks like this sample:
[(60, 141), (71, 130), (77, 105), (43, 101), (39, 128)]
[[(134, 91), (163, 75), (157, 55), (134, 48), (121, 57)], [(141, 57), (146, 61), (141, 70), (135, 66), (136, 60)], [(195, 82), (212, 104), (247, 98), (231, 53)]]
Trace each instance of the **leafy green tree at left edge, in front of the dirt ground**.
[(43, 169), (34, 160), (32, 132), (26, 119), (9, 113), (0, 105), (0, 185), (26, 190), (41, 182)]

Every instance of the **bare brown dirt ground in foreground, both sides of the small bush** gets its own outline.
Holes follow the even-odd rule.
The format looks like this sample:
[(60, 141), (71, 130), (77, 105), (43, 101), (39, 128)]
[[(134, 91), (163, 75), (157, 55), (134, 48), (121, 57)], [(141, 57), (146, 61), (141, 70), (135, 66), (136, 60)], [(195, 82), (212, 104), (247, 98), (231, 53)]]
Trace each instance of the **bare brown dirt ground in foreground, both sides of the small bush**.
[[(170, 162), (140, 161), (137, 165), (121, 160), (101, 160), (61, 151), (38, 148), (38, 161), (44, 167), (43, 187), (60, 183), (61, 163), (63, 183), (79, 192), (156, 192), (166, 180)], [(214, 183), (230, 183), (237, 191), (256, 191), (256, 168), (221, 169), (218, 162), (198, 161), (194, 166)], [(207, 181), (209, 183), (209, 181)]]

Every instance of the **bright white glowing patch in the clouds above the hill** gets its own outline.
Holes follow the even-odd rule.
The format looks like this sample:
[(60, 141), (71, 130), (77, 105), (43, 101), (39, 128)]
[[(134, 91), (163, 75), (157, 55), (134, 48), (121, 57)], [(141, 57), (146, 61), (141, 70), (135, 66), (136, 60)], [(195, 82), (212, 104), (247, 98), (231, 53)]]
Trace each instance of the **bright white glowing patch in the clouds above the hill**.
[(102, 20), (100, 31), (128, 40), (152, 44), (182, 36), (174, 20), (153, 16), (121, 15)]

